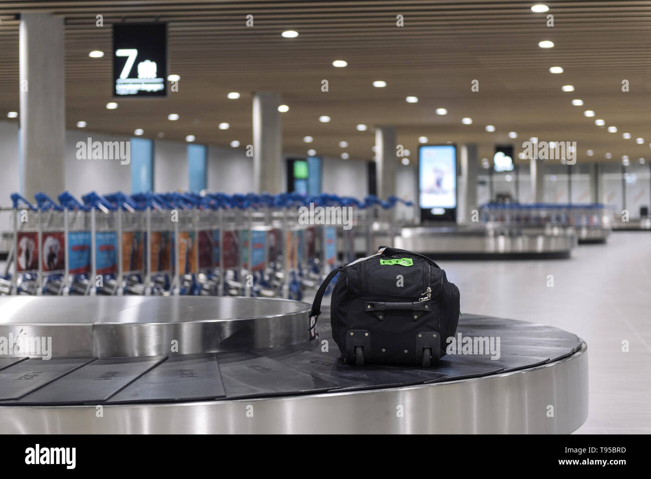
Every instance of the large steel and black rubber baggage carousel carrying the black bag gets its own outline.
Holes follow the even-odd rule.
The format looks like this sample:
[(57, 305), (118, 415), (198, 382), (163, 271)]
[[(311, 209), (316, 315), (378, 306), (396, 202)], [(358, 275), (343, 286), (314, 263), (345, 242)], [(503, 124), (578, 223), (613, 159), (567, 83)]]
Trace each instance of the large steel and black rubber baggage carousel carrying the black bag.
[(309, 307), (0, 298), (0, 433), (571, 433), (587, 418), (572, 333), (464, 314), (436, 368), (353, 366), (327, 308), (309, 340)]

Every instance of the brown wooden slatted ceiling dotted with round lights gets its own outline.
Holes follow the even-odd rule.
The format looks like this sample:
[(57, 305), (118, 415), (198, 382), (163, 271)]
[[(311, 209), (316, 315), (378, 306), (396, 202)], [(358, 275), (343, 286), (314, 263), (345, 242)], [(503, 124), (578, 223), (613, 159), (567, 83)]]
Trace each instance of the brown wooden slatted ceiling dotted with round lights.
[[(533, 1), (0, 1), (0, 115), (18, 111), (18, 24), (21, 12), (48, 11), (66, 19), (66, 127), (84, 120), (89, 131), (229, 145), (251, 143), (251, 98), (280, 92), (284, 150), (370, 159), (375, 125), (395, 125), (398, 142), (417, 150), (430, 143), (476, 142), (482, 155), (496, 143), (529, 137), (577, 141), (579, 161), (651, 161), (651, 2), (549, 1), (554, 15), (531, 12)], [(104, 27), (95, 26), (96, 14)], [(253, 14), (254, 27), (245, 26)], [(396, 14), (404, 27), (396, 27)], [(111, 98), (111, 24), (165, 21), (171, 73), (178, 92), (163, 100)], [(298, 38), (282, 38), (295, 29)], [(538, 48), (552, 40), (555, 48)], [(105, 52), (90, 59), (92, 49)], [(346, 68), (331, 62), (344, 59)], [(549, 73), (562, 66), (564, 73)], [(329, 81), (329, 92), (321, 81)], [(384, 89), (372, 81), (387, 82)], [(478, 79), (479, 92), (471, 92)], [(622, 92), (622, 79), (630, 92)], [(574, 92), (562, 92), (574, 85)], [(230, 91), (242, 94), (227, 100)], [(406, 103), (408, 95), (418, 103)], [(583, 106), (573, 106), (574, 98)], [(448, 115), (435, 115), (445, 107)], [(583, 111), (594, 110), (594, 118)], [(176, 122), (167, 120), (178, 113)], [(320, 115), (332, 121), (318, 122)], [(473, 118), (463, 125), (461, 118)], [(604, 127), (594, 125), (603, 118)], [(229, 122), (229, 130), (217, 124)], [(368, 131), (357, 131), (359, 123)], [(488, 124), (495, 132), (484, 130)], [(608, 133), (616, 126), (617, 133)], [(518, 139), (508, 138), (516, 131)], [(630, 132), (631, 139), (622, 133)], [(310, 135), (314, 142), (306, 144)], [(643, 144), (635, 138), (644, 138)], [(339, 142), (347, 141), (347, 148)], [(587, 157), (586, 150), (594, 150)]]

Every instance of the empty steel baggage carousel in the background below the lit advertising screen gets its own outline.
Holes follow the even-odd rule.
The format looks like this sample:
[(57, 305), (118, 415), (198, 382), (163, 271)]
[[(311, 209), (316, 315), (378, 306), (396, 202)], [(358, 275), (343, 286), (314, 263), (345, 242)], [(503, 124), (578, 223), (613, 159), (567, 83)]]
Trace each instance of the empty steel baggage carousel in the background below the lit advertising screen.
[(486, 226), (422, 226), (402, 228), (396, 248), (422, 251), (437, 259), (569, 258), (574, 234)]

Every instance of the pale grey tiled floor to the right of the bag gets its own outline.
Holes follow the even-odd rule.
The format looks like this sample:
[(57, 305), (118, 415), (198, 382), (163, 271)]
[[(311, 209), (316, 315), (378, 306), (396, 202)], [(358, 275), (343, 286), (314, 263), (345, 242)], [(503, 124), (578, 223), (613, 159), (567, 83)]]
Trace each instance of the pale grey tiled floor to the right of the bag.
[(438, 263), (462, 312), (561, 327), (588, 343), (589, 416), (577, 433), (651, 433), (650, 232), (614, 232), (569, 260)]

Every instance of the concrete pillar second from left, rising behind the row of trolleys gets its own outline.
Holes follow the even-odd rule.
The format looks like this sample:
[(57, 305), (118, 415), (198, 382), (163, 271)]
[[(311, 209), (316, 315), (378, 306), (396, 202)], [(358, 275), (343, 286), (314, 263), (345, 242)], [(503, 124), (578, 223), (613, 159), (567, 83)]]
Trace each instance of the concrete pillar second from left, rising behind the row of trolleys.
[(283, 191), (283, 136), (278, 112), (280, 96), (256, 92), (253, 96), (253, 186), (257, 193)]

